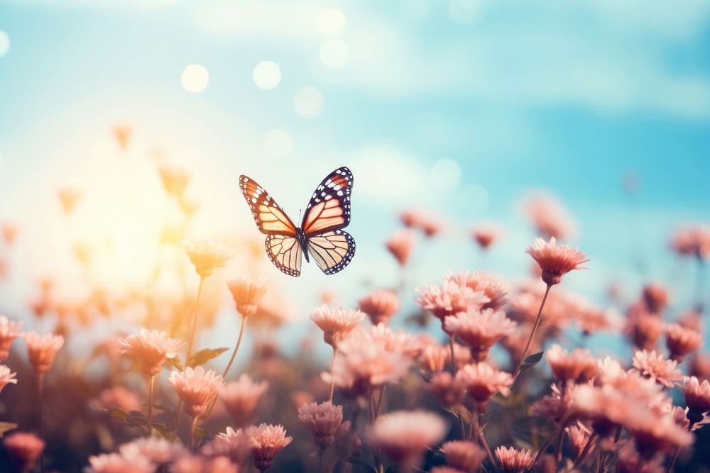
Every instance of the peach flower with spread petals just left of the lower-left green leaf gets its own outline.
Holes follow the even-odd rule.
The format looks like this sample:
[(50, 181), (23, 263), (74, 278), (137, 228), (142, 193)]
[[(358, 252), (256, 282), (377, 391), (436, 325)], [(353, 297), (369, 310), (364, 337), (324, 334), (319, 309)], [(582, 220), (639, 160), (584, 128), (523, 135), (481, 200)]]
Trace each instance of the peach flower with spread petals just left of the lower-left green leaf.
[(163, 363), (175, 358), (185, 345), (181, 340), (170, 338), (163, 330), (141, 328), (138, 335), (129, 335), (119, 340), (121, 353), (130, 353), (141, 361), (143, 373), (153, 377), (160, 372)]

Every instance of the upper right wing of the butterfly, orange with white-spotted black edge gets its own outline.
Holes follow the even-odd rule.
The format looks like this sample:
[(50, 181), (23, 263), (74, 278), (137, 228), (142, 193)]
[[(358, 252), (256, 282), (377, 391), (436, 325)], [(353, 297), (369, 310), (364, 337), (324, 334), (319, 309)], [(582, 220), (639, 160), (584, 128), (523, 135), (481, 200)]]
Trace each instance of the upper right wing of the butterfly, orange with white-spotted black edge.
[(347, 167), (339, 167), (323, 179), (303, 214), (301, 228), (307, 237), (348, 226), (352, 187), (353, 174)]

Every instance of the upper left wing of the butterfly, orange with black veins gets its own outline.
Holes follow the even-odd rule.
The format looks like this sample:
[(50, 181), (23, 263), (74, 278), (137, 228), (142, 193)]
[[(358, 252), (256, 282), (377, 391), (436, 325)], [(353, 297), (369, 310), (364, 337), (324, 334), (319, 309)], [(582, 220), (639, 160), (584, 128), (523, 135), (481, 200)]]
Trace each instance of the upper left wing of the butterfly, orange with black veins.
[(239, 176), (239, 188), (261, 233), (291, 237), (296, 235), (296, 226), (263, 187), (242, 174)]

